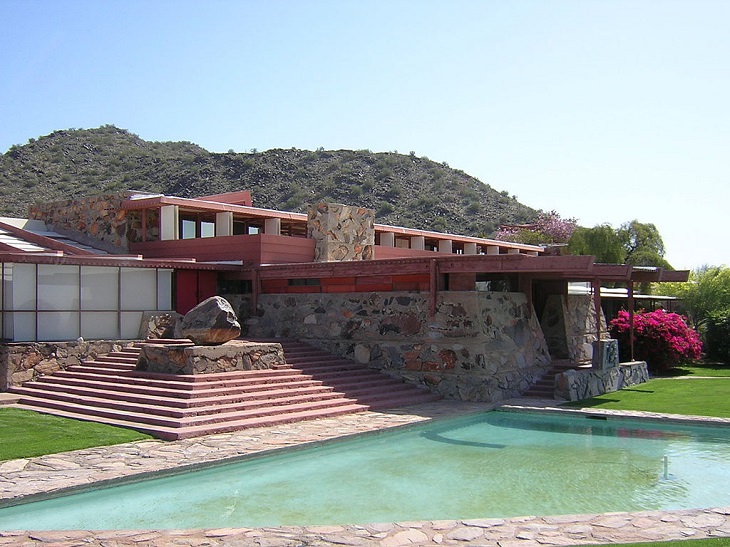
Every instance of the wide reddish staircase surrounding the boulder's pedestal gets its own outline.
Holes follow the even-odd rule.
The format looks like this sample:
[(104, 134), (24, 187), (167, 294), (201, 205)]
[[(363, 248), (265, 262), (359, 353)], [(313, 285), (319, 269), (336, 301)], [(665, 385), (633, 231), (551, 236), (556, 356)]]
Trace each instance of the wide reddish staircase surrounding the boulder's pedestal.
[(281, 343), (286, 364), (267, 370), (146, 373), (135, 370), (139, 348), (127, 347), (13, 387), (10, 392), (20, 397), (20, 408), (129, 427), (166, 440), (439, 398), (307, 344), (275, 342)]

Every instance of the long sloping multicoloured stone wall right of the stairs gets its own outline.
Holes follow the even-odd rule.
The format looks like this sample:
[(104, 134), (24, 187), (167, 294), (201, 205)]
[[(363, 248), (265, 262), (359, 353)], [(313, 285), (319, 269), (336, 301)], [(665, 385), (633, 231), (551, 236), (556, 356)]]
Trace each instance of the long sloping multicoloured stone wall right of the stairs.
[(522, 293), (442, 292), (433, 318), (428, 295), (405, 292), (264, 294), (253, 316), (232, 303), (244, 336), (298, 338), (451, 399), (519, 395), (550, 363)]

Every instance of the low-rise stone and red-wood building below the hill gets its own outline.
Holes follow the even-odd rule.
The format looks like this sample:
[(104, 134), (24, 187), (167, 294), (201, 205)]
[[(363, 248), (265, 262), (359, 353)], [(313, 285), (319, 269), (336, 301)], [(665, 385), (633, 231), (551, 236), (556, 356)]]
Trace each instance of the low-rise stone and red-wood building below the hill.
[[(590, 362), (606, 337), (603, 283), (625, 284), (630, 303), (634, 282), (687, 279), (382, 225), (360, 207), (261, 209), (249, 192), (126, 192), (34, 205), (29, 217), (0, 219), (2, 355), (13, 343), (135, 339), (150, 313), (222, 295), (245, 337), (306, 340), (472, 401), (519, 395), (556, 359)], [(569, 294), (572, 282), (589, 294)], [(34, 374), (9, 359), (0, 389)]]

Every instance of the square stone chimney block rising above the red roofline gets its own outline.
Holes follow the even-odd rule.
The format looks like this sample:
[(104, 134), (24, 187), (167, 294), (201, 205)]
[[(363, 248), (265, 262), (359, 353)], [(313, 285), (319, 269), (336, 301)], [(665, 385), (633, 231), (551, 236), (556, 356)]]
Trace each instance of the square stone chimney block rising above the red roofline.
[(315, 241), (315, 262), (370, 260), (375, 246), (375, 211), (318, 203), (309, 209), (307, 237)]

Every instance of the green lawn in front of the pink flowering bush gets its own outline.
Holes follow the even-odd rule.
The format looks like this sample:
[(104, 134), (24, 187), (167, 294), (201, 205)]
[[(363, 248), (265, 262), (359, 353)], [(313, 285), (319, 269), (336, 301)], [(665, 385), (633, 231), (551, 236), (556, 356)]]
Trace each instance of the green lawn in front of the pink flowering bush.
[(655, 378), (645, 384), (562, 406), (730, 418), (730, 377)]

